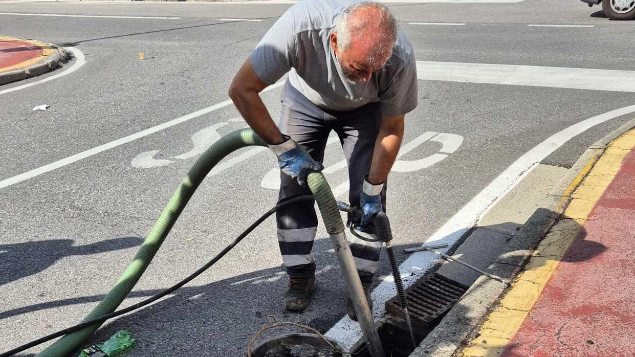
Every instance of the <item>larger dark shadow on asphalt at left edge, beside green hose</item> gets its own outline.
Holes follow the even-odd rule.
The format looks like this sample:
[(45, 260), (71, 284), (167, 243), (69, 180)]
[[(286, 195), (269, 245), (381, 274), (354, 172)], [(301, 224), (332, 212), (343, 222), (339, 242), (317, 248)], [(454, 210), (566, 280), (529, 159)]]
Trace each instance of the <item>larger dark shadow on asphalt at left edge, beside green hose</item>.
[(37, 274), (70, 255), (111, 252), (138, 246), (143, 242), (140, 237), (123, 237), (81, 246), (73, 246), (72, 239), (0, 244), (0, 285)]

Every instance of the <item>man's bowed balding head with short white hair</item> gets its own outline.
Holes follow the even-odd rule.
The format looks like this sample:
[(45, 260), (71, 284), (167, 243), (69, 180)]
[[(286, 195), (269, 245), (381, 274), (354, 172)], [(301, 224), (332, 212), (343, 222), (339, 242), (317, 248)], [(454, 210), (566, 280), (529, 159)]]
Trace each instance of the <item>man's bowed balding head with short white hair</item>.
[[(377, 17), (351, 17), (356, 11), (364, 8), (376, 8), (379, 11)], [(350, 21), (354, 18), (356, 21)], [(337, 33), (337, 46), (341, 50), (346, 50), (356, 39), (366, 37), (366, 34), (379, 32), (379, 43), (372, 47), (366, 63), (369, 65), (378, 64), (385, 60), (392, 53), (392, 47), (397, 40), (398, 22), (396, 17), (388, 10), (387, 6), (374, 1), (364, 1), (352, 4), (342, 11), (335, 22), (335, 32)]]

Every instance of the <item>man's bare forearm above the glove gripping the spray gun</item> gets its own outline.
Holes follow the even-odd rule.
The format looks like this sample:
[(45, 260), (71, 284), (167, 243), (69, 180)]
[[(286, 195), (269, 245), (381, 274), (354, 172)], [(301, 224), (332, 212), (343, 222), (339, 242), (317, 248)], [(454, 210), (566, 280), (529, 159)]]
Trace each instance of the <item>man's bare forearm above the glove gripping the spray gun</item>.
[(373, 151), (373, 161), (368, 174), (370, 184), (381, 184), (387, 179), (403, 140), (404, 118), (405, 115), (394, 117), (382, 115), (382, 123)]

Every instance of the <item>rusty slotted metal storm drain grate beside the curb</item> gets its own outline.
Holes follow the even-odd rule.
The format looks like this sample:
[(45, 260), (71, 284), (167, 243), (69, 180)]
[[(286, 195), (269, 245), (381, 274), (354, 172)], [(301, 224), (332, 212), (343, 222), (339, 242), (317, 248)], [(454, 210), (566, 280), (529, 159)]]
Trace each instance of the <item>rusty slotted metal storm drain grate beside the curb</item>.
[[(426, 327), (430, 321), (445, 313), (467, 291), (468, 286), (443, 275), (433, 273), (406, 289), (408, 311), (412, 323)], [(386, 302), (386, 312), (405, 319), (399, 297)]]

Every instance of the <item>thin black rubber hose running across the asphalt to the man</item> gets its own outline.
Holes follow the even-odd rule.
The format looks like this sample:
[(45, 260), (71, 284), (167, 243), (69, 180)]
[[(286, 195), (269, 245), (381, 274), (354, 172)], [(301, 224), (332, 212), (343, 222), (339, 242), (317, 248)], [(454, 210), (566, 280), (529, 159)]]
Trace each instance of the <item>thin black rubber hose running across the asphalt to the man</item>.
[(77, 324), (75, 326), (72, 326), (72, 327), (69, 327), (69, 328), (65, 328), (64, 330), (60, 330), (58, 332), (51, 333), (50, 335), (46, 335), (44, 337), (41, 337), (40, 339), (33, 340), (33, 341), (31, 341), (31, 342), (29, 342), (27, 344), (23, 344), (20, 347), (16, 347), (14, 349), (11, 349), (11, 351), (7, 351), (7, 352), (5, 352), (3, 354), (0, 354), (0, 357), (13, 356), (16, 353), (20, 353), (22, 351), (25, 351), (25, 350), (31, 348), (31, 347), (35, 347), (35, 346), (37, 346), (39, 344), (42, 344), (42, 343), (44, 343), (44, 342), (46, 342), (48, 340), (52, 340), (52, 339), (55, 339), (57, 337), (66, 335), (67, 333), (76, 332), (76, 331), (81, 330), (84, 327), (89, 327), (90, 325), (93, 325), (95, 323), (103, 323), (104, 321), (110, 320), (111, 318), (116, 318), (117, 316), (121, 316), (123, 314), (130, 313), (130, 311), (134, 311), (136, 309), (139, 309), (140, 307), (144, 307), (147, 304), (151, 304), (152, 302), (155, 302), (156, 300), (159, 300), (162, 297), (164, 297), (164, 296), (166, 296), (166, 295), (168, 295), (168, 294), (170, 294), (172, 292), (175, 292), (175, 290), (177, 290), (181, 286), (184, 286), (185, 284), (189, 283), (194, 278), (196, 278), (197, 276), (202, 274), (207, 269), (210, 269), (211, 266), (213, 266), (216, 262), (218, 262), (218, 260), (220, 260), (222, 257), (224, 257), (225, 254), (227, 254), (230, 250), (232, 250), (232, 248), (234, 248), (234, 246), (236, 246), (238, 243), (240, 243), (240, 241), (242, 241), (243, 238), (245, 238), (248, 234), (250, 234), (251, 231), (253, 231), (262, 222), (264, 222), (265, 219), (267, 219), (274, 212), (276, 212), (276, 210), (278, 208), (282, 208), (284, 206), (291, 205), (291, 204), (296, 203), (298, 201), (305, 201), (305, 200), (309, 200), (309, 199), (314, 199), (314, 197), (312, 195), (310, 195), (310, 194), (307, 194), (307, 195), (304, 195), (304, 196), (294, 197), (294, 198), (288, 199), (287, 201), (284, 201), (284, 202), (281, 202), (281, 203), (277, 204), (276, 206), (271, 208), (271, 210), (267, 211), (264, 215), (260, 216), (259, 219), (257, 219), (255, 222), (253, 222), (251, 224), (251, 226), (249, 226), (247, 229), (245, 229), (244, 232), (242, 232), (230, 245), (226, 246), (225, 249), (222, 250), (222, 252), (218, 253), (207, 264), (205, 264), (204, 266), (199, 268), (194, 273), (190, 274), (190, 276), (188, 276), (184, 280), (181, 280), (177, 284), (171, 286), (170, 288), (168, 288), (166, 290), (163, 290), (163, 292), (157, 293), (156, 295), (154, 295), (152, 297), (149, 297), (148, 299), (145, 299), (145, 300), (143, 300), (141, 302), (138, 302), (137, 304), (128, 306), (128, 307), (126, 307), (124, 309), (121, 309), (121, 310), (117, 310), (114, 313), (106, 314), (104, 316), (100, 316), (100, 317), (95, 318), (93, 320), (86, 321), (86, 322), (83, 322), (83, 323), (79, 323), (79, 324)]

